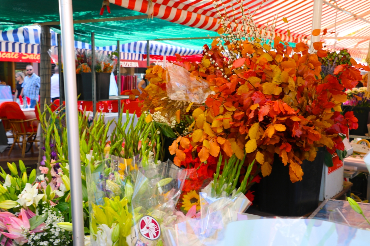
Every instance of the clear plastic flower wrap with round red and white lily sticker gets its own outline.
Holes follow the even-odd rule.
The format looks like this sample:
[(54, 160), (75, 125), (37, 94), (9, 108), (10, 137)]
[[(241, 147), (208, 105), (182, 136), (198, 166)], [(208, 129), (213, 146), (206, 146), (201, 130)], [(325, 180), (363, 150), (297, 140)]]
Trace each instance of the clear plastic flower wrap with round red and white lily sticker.
[(184, 185), (186, 170), (169, 162), (139, 166), (132, 194), (134, 224), (131, 245), (163, 245), (161, 231), (176, 218), (174, 209)]

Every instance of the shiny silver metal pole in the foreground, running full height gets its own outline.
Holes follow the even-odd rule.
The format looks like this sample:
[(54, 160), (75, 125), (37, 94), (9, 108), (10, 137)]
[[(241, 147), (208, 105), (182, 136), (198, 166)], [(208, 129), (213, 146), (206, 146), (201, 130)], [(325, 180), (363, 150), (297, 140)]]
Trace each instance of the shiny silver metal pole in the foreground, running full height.
[(68, 161), (71, 180), (73, 245), (84, 245), (80, 134), (78, 132), (77, 83), (74, 57), (72, 0), (59, 0), (60, 27), (63, 44), (65, 113), (67, 118)]

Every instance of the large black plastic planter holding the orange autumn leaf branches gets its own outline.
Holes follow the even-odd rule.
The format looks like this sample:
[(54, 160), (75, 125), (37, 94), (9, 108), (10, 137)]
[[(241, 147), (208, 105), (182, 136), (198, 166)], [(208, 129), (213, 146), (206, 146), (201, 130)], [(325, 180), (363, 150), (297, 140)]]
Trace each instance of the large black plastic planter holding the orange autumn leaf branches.
[(279, 216), (303, 216), (319, 205), (325, 148), (319, 148), (313, 162), (303, 161), (302, 181), (292, 183), (289, 165), (275, 154), (272, 171), (258, 186), (260, 211)]

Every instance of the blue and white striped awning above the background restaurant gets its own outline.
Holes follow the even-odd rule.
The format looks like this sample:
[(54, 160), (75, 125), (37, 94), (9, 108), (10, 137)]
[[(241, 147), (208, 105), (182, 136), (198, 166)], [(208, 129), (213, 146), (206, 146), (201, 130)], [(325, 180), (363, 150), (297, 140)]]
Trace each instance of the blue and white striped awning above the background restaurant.
[[(56, 46), (57, 44), (57, 34), (54, 31), (51, 32), (51, 45)], [(15, 50), (23, 50), (26, 49), (27, 45), (33, 45), (33, 46), (27, 46), (29, 47), (29, 50), (32, 52), (26, 52), (26, 53), (35, 53), (35, 50), (37, 50), (37, 53), (40, 53), (40, 47), (38, 46), (40, 44), (40, 33), (41, 29), (40, 27), (21, 27), (14, 30), (9, 31), (2, 31), (0, 41), (7, 41), (7, 44), (4, 44), (6, 46), (9, 46), (8, 49), (11, 49), (12, 52), (16, 52)], [(11, 44), (10, 44), (11, 43)], [(21, 45), (18, 45), (21, 44)], [(3, 42), (1, 42), (1, 45), (3, 45)], [(11, 48), (10, 48), (11, 45)], [(23, 45), (23, 46), (22, 46)], [(26, 45), (26, 46), (25, 46)], [(74, 41), (75, 48), (79, 49), (91, 49), (91, 45), (80, 42), (80, 41)], [(120, 45), (121, 51), (124, 53), (136, 53), (136, 54), (146, 54), (147, 53), (147, 42), (146, 41), (137, 41), (137, 42), (131, 42), (127, 44)], [(21, 47), (21, 48), (17, 48)], [(111, 46), (96, 46), (96, 50), (101, 51), (115, 51), (117, 50), (117, 45), (111, 45)], [(27, 48), (28, 51), (28, 48)], [(168, 45), (168, 44), (162, 44), (160, 42), (156, 41), (150, 41), (150, 54), (151, 55), (166, 55), (166, 56), (174, 56), (176, 53), (180, 55), (196, 55), (201, 54), (202, 49), (189, 49), (189, 48), (183, 48), (179, 46), (174, 45)]]

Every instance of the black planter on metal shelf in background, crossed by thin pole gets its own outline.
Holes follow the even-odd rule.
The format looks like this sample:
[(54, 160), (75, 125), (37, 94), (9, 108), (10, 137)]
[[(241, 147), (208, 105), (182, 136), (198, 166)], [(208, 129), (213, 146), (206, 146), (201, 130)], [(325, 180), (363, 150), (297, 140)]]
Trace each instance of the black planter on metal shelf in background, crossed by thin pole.
[[(95, 73), (96, 75), (96, 100), (109, 99), (110, 73)], [(91, 73), (76, 74), (77, 95), (80, 101), (92, 101)]]

